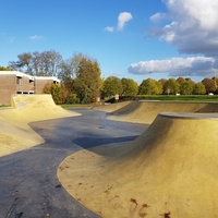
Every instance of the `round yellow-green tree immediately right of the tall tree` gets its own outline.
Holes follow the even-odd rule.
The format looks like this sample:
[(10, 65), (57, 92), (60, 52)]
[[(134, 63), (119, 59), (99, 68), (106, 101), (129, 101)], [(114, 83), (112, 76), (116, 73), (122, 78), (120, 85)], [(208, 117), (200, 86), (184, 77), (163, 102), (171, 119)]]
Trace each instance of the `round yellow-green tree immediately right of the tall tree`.
[(122, 95), (122, 83), (117, 76), (109, 76), (104, 81), (102, 93), (107, 97), (114, 96), (116, 94)]

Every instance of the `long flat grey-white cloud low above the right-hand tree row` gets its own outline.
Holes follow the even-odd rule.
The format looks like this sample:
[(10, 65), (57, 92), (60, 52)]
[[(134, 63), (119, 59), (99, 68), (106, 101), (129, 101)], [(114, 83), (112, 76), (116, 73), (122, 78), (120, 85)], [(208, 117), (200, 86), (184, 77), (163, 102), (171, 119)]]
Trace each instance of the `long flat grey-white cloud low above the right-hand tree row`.
[(129, 73), (148, 74), (168, 73), (169, 76), (209, 75), (215, 59), (209, 57), (171, 58), (165, 60), (150, 60), (132, 63)]

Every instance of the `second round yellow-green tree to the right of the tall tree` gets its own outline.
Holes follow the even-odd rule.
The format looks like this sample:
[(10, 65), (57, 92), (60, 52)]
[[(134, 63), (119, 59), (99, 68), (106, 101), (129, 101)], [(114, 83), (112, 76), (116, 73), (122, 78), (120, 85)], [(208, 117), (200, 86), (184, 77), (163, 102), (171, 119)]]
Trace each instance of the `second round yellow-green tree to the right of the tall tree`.
[(135, 96), (138, 92), (137, 83), (132, 78), (121, 78), (122, 83), (122, 95)]

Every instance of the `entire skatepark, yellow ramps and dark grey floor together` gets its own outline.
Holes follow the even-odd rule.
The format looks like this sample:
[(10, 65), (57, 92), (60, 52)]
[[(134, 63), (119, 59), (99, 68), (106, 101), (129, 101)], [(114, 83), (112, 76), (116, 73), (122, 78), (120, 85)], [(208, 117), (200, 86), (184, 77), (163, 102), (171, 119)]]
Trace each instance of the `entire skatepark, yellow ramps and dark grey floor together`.
[(218, 216), (218, 104), (31, 97), (0, 110), (4, 217)]

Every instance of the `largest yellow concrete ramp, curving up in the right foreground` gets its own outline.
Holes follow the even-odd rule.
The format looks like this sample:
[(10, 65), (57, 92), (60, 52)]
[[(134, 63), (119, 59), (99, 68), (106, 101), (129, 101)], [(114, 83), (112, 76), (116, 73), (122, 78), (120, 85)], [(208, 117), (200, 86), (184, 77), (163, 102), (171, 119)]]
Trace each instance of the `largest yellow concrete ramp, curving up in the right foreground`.
[(160, 113), (135, 141), (69, 156), (58, 178), (104, 218), (217, 217), (217, 113)]

